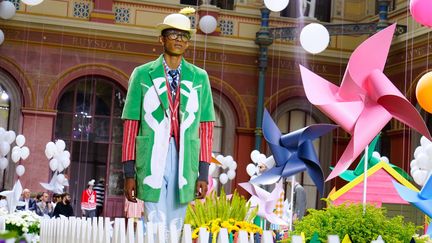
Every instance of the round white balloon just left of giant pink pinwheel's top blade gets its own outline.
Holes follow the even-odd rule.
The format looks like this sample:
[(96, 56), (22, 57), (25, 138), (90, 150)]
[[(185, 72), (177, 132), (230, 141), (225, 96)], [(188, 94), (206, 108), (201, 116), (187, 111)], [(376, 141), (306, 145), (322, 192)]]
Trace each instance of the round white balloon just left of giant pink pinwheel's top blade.
[(324, 51), (330, 42), (330, 34), (322, 24), (311, 23), (303, 27), (300, 44), (307, 52), (318, 54)]

